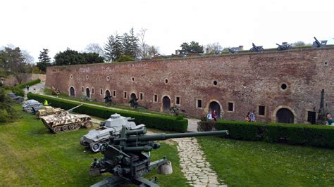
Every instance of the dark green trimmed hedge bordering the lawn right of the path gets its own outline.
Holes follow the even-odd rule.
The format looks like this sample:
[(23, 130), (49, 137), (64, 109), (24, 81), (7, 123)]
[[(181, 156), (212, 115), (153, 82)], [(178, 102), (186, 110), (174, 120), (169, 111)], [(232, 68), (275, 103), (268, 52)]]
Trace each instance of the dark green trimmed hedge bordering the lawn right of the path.
[[(212, 122), (199, 123), (199, 126), (210, 126)], [(334, 127), (326, 125), (219, 121), (214, 127), (228, 130), (227, 138), (334, 148)]]

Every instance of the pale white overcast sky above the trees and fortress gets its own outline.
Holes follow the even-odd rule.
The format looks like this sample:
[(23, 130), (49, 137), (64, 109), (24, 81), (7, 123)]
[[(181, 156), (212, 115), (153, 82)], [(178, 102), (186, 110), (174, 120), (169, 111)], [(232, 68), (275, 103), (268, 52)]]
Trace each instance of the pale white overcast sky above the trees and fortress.
[(264, 48), (282, 41), (313, 37), (334, 44), (334, 1), (83, 1), (4, 0), (0, 4), (0, 46), (13, 44), (38, 60), (49, 49), (54, 57), (89, 43), (104, 46), (107, 37), (134, 27), (147, 29), (149, 45), (175, 53), (192, 40), (206, 45)]

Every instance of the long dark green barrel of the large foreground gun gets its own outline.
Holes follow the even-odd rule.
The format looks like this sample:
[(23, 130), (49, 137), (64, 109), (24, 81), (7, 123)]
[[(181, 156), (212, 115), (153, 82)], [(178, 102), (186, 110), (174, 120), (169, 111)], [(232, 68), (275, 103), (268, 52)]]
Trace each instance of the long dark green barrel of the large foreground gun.
[(171, 138), (187, 138), (195, 136), (214, 136), (214, 135), (227, 135), (228, 131), (204, 131), (204, 132), (189, 132), (189, 133), (176, 133), (176, 134), (154, 134), (143, 136), (130, 136), (128, 142), (135, 141), (163, 141)]

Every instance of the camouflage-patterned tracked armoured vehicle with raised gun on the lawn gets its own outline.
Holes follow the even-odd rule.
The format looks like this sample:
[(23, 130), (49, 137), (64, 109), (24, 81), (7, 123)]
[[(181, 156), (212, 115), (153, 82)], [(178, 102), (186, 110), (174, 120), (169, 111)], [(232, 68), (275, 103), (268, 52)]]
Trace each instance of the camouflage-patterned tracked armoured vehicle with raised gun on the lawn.
[[(80, 107), (80, 105), (75, 108), (78, 107)], [(40, 119), (45, 126), (54, 133), (74, 131), (80, 129), (80, 127), (85, 127), (87, 129), (91, 128), (93, 123), (91, 121), (92, 118), (89, 115), (70, 114), (75, 108), (71, 108), (70, 110), (56, 115), (42, 116)]]

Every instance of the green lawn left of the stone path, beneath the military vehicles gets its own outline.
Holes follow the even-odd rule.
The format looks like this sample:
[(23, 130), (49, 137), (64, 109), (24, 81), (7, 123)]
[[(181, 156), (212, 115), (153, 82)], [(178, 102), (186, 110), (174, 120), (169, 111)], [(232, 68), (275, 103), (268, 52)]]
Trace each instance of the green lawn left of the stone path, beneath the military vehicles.
[[(93, 158), (103, 156), (80, 146), (88, 129), (52, 134), (34, 115), (19, 112), (19, 116), (16, 122), (0, 124), (0, 186), (90, 186), (110, 175), (88, 175)], [(154, 170), (147, 178), (158, 176), (161, 186), (187, 186), (176, 145), (161, 144), (151, 152), (152, 158), (166, 155), (174, 172), (158, 175)]]

